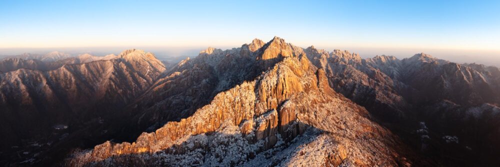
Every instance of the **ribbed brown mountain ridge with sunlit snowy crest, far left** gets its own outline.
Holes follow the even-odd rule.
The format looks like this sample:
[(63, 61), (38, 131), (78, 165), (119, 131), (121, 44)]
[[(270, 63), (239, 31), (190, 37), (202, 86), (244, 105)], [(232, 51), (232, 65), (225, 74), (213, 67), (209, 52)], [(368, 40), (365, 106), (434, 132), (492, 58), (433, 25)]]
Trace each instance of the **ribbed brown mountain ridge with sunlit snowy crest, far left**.
[(61, 134), (51, 133), (55, 124), (69, 125), (70, 134), (81, 135), (77, 131), (119, 118), (116, 111), (146, 90), (165, 69), (152, 58), (151, 53), (127, 50), (112, 60), (1, 73), (0, 132), (9, 134), (1, 136), (2, 149), (58, 141)]

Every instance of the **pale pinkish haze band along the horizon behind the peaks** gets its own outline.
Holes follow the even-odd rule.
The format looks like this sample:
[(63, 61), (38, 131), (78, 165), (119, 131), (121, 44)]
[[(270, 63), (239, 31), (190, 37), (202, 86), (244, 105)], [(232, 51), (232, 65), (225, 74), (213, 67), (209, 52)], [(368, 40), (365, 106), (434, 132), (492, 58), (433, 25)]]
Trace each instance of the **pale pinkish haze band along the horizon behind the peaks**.
[[(285, 39), (286, 40), (286, 39)], [(265, 40), (264, 40), (265, 41)], [(289, 42), (289, 41), (287, 41)], [(249, 42), (246, 42), (249, 43)], [(293, 44), (293, 42), (291, 42)], [(241, 43), (244, 44), (244, 43)], [(45, 54), (51, 51), (60, 51), (71, 55), (79, 55), (90, 53), (96, 56), (106, 54), (118, 54), (121, 51), (129, 48), (142, 49), (147, 52), (152, 52), (161, 60), (179, 60), (185, 57), (195, 57), (199, 51), (207, 47), (215, 47), (220, 49), (231, 49), (234, 46), (211, 46), (204, 47), (52, 47), (52, 48), (0, 48), (0, 58), (8, 55), (18, 55), (22, 53)], [(308, 46), (300, 46), (306, 48)], [(371, 58), (376, 55), (393, 55), (399, 59), (413, 56), (416, 53), (424, 52), (437, 57), (457, 63), (479, 63), (485, 65), (494, 65), (500, 67), (500, 61), (491, 61), (491, 59), (499, 59), (500, 51), (492, 50), (472, 50), (472, 49), (429, 49), (429, 48), (366, 48), (366, 47), (318, 47), (328, 52), (333, 49), (348, 50), (351, 53), (358, 53), (362, 58)]]

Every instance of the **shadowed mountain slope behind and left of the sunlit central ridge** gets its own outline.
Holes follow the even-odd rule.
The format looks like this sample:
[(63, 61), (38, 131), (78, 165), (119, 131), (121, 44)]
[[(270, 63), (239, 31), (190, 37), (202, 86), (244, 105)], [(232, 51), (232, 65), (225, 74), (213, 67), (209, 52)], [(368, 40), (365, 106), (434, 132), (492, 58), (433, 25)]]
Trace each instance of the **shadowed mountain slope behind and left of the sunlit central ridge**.
[[(129, 121), (133, 123), (129, 127), (123, 127), (122, 131), (140, 131), (139, 129), (144, 128), (152, 131), (167, 121), (186, 118), (197, 108), (208, 104), (217, 93), (243, 81), (253, 80), (279, 61), (276, 58), (261, 58), (268, 47), (275, 47), (280, 43), (283, 45), (282, 50), (290, 55), (298, 56), (303, 53), (300, 48), (292, 47), (280, 38), (263, 43), (255, 39), (250, 44), (230, 50), (207, 48), (196, 58), (179, 62), (130, 104), (133, 107), (124, 109), (125, 113), (130, 114)], [(257, 47), (259, 49), (255, 50)], [(252, 49), (255, 51), (251, 51)]]

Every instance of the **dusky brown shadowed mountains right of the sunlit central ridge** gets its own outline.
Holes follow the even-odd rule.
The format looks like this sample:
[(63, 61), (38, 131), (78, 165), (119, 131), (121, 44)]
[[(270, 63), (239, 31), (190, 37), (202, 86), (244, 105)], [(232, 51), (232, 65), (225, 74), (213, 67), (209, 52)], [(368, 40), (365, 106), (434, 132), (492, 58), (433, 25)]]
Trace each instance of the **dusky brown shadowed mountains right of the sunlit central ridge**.
[[(400, 60), (386, 55), (362, 59), (347, 51), (327, 52), (314, 47), (307, 48), (306, 52), (313, 64), (325, 69), (331, 87), (366, 107), (382, 122), (390, 123), (389, 127), (400, 131), (400, 135), (417, 138), (413, 136), (414, 129), (422, 121), (427, 122), (433, 133), (453, 134), (462, 139), (462, 144), (454, 146), (460, 147), (457, 150), (446, 148), (448, 144), (441, 142), (442, 136), (431, 136), (428, 143), (433, 142), (433, 145), (430, 150), (425, 148), (426, 152), (448, 149), (446, 156), (470, 154), (466, 157), (468, 162), (478, 158), (488, 161), (484, 164), (498, 163), (492, 158), (497, 153), (486, 150), (486, 147), (496, 145), (495, 141), (484, 142), (484, 138), (500, 134), (491, 128), (475, 128), (498, 126), (491, 121), (482, 121), (498, 120), (495, 116), (484, 114), (500, 104), (497, 67), (457, 64), (425, 53)], [(475, 115), (480, 116), (467, 116), (469, 108), (478, 110)], [(477, 131), (480, 137), (469, 135)], [(474, 154), (465, 147), (488, 153)], [(452, 159), (445, 161), (463, 164), (453, 163)]]

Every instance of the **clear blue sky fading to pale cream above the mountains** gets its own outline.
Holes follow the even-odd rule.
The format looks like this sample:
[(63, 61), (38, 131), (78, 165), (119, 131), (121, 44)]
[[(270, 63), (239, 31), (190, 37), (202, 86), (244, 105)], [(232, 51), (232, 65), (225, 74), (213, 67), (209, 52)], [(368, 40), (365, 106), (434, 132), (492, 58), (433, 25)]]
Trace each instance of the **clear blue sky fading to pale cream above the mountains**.
[(500, 52), (499, 0), (0, 0), (0, 23), (3, 49), (230, 48), (277, 35), (358, 52)]

